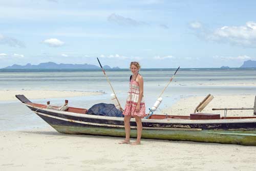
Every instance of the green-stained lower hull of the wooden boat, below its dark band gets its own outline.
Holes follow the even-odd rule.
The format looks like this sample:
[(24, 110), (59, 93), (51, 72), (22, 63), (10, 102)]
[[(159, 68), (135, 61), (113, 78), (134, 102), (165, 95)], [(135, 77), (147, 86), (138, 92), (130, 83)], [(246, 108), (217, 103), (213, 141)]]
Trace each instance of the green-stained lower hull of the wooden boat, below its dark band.
[[(56, 118), (44, 113), (36, 113), (59, 133), (125, 137), (123, 125), (98, 125), (91, 122), (65, 118), (60, 119), (60, 117)], [(137, 137), (136, 127), (132, 126), (131, 128), (131, 137)], [(202, 130), (179, 127), (144, 127), (142, 138), (256, 145), (256, 130)]]

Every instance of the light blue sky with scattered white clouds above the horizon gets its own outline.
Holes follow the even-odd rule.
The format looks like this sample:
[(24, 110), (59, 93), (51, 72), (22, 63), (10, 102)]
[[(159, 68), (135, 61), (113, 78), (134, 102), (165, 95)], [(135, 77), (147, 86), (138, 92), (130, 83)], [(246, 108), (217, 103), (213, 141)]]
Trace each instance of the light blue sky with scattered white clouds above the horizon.
[(240, 67), (256, 60), (256, 1), (1, 0), (0, 68), (41, 62)]

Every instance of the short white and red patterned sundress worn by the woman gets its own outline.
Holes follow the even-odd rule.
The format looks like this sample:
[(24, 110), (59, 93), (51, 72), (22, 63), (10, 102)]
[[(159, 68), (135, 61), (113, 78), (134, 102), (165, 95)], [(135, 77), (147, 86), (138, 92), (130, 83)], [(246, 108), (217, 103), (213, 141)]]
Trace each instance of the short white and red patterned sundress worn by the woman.
[(146, 116), (145, 102), (144, 102), (143, 96), (140, 101), (140, 111), (136, 112), (136, 106), (137, 106), (137, 102), (139, 100), (139, 92), (140, 92), (139, 83), (135, 80), (131, 80), (129, 87), (130, 87), (130, 90), (128, 92), (128, 97), (126, 100), (123, 115), (139, 116), (139, 117), (143, 118), (144, 116)]

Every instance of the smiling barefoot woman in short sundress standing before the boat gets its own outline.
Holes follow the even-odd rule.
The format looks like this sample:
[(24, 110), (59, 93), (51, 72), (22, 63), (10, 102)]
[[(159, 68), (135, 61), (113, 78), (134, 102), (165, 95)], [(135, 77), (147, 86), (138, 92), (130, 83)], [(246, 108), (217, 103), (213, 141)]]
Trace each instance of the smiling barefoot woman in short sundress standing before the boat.
[(145, 103), (143, 99), (143, 78), (139, 74), (140, 65), (139, 62), (131, 62), (130, 69), (133, 73), (130, 77), (130, 90), (126, 100), (124, 108), (124, 129), (125, 129), (125, 139), (120, 144), (129, 144), (130, 143), (130, 120), (132, 117), (135, 118), (137, 124), (137, 140), (131, 145), (140, 144), (141, 132), (142, 132), (142, 123), (141, 118), (145, 114)]

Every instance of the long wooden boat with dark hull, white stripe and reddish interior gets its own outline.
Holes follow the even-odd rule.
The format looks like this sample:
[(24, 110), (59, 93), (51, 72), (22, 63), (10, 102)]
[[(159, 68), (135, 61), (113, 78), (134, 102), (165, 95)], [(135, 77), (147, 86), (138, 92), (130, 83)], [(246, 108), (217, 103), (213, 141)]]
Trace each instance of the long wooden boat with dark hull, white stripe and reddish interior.
[[(72, 107), (66, 111), (48, 109), (47, 105), (33, 103), (24, 95), (16, 97), (59, 133), (125, 136), (123, 118), (88, 115), (87, 109)], [(142, 125), (142, 138), (256, 145), (256, 116), (152, 115), (142, 119)], [(136, 136), (136, 122), (132, 118), (131, 137)]]

